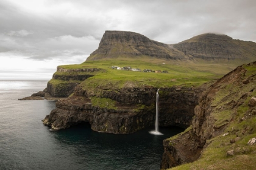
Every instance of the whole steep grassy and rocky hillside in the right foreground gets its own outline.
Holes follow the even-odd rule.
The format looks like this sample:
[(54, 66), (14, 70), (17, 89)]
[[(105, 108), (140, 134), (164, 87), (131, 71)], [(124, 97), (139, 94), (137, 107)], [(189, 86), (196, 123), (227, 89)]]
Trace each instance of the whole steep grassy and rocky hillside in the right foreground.
[(162, 169), (255, 169), (255, 84), (256, 62), (208, 87), (194, 108), (191, 127), (163, 142)]

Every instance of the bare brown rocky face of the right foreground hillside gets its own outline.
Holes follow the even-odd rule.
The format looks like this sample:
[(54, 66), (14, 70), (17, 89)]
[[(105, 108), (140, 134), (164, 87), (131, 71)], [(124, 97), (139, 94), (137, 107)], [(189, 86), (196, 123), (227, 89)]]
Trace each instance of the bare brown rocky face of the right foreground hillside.
[[(251, 67), (249, 70), (255, 70), (255, 66), (256, 62), (247, 65)], [(255, 72), (247, 72), (239, 66), (205, 90), (194, 108), (192, 126), (176, 138), (163, 141), (161, 169), (197, 160), (207, 147), (206, 141), (224, 132), (237, 115), (238, 107), (251, 98), (249, 94), (255, 90)], [(247, 112), (253, 115), (253, 107)]]

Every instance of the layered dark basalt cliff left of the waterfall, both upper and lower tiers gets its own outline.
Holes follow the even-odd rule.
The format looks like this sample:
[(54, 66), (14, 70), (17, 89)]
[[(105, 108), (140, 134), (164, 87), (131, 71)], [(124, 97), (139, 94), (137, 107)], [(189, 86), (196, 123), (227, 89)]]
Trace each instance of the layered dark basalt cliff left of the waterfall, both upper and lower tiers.
[[(52, 110), (51, 114), (44, 118), (43, 123), (51, 126), (51, 129), (65, 129), (81, 122), (88, 122), (91, 124), (91, 129), (98, 132), (114, 134), (136, 132), (150, 126), (154, 121), (154, 112), (146, 98), (152, 98), (154, 95), (152, 92), (155, 89), (149, 90), (148, 87), (145, 89), (141, 88), (135, 92), (134, 89), (125, 88), (123, 93), (118, 92), (118, 94), (114, 91), (102, 90), (102, 97), (116, 99), (115, 108), (110, 109), (93, 106), (87, 90), (77, 87), (72, 97), (57, 101), (57, 109)], [(143, 109), (136, 106), (138, 97), (141, 103), (147, 103), (149, 106)], [(132, 98), (137, 98), (137, 100), (132, 100)]]

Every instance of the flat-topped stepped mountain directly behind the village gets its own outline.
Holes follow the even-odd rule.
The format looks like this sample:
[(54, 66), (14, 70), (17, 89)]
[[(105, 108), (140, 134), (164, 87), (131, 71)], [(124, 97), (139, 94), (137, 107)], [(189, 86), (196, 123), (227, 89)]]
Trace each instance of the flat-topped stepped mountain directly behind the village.
[(185, 59), (179, 50), (170, 48), (168, 44), (153, 41), (139, 33), (106, 31), (99, 43), (99, 48), (91, 53), (87, 60), (115, 58), (123, 55), (148, 55), (174, 60)]

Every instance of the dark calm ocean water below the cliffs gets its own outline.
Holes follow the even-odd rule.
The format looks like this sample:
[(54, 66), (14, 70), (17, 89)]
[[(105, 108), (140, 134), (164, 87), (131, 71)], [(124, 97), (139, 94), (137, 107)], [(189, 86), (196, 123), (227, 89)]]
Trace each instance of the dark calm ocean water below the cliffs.
[(86, 124), (49, 131), (41, 120), (55, 101), (18, 100), (47, 81), (0, 81), (0, 169), (160, 169), (163, 140), (179, 127), (149, 127), (134, 134), (91, 131)]

